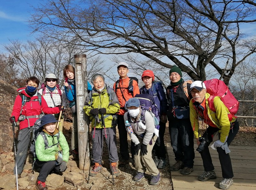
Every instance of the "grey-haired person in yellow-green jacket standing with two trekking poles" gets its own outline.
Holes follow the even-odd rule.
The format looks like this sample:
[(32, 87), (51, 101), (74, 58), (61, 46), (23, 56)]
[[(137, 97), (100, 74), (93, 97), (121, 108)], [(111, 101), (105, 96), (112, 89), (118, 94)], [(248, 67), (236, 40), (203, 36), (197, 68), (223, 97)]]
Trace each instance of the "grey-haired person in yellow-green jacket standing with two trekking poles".
[[(113, 175), (118, 176), (116, 162), (118, 161), (116, 148), (116, 112), (120, 110), (118, 98), (113, 88), (106, 87), (104, 76), (94, 74), (92, 76), (92, 92), (89, 93), (84, 103), (84, 112), (92, 122), (92, 170), (90, 176), (96, 176), (101, 171), (103, 138), (107, 134), (110, 162)], [(104, 123), (102, 117), (104, 116)]]

